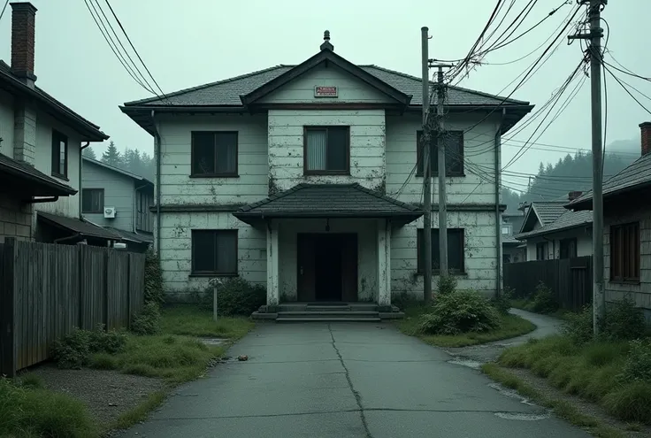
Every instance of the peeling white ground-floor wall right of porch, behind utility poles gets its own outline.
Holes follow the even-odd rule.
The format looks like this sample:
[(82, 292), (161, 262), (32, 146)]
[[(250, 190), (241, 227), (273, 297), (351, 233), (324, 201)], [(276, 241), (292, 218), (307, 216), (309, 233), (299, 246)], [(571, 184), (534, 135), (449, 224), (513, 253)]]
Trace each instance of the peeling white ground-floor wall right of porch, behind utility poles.
[[(432, 227), (439, 226), (432, 215)], [(410, 294), (423, 298), (423, 276), (417, 274), (417, 228), (423, 218), (394, 229), (391, 239), (392, 295)], [(458, 288), (474, 289), (486, 296), (495, 293), (497, 279), (497, 239), (494, 211), (448, 211), (448, 228), (464, 229), (464, 263), (466, 273), (456, 275)], [(433, 276), (435, 292), (438, 276)]]

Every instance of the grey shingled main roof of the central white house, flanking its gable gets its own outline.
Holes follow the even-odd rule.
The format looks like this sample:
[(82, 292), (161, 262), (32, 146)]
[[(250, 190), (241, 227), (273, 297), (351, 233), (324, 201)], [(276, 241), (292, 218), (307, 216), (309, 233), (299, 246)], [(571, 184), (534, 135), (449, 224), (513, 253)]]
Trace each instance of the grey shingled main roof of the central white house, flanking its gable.
[[(242, 74), (223, 81), (211, 82), (192, 88), (185, 88), (165, 97), (152, 97), (132, 102), (126, 106), (158, 106), (158, 105), (187, 105), (187, 106), (241, 106), (241, 95), (249, 94), (265, 83), (287, 73), (295, 65), (276, 65), (257, 72)], [(380, 81), (413, 96), (410, 105), (421, 105), (423, 102), (423, 85), (420, 78), (410, 74), (395, 72), (377, 65), (359, 65), (365, 72), (371, 73)], [(430, 82), (434, 85), (434, 82)], [(491, 106), (498, 104), (528, 105), (528, 102), (516, 99), (506, 99), (468, 88), (448, 86), (448, 104)]]

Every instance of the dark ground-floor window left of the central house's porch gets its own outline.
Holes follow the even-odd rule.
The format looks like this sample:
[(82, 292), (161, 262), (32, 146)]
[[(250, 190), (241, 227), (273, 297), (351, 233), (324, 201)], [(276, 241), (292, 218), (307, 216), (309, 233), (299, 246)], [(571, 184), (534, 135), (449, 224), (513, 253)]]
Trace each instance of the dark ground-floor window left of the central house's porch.
[(237, 230), (192, 230), (192, 273), (237, 274)]

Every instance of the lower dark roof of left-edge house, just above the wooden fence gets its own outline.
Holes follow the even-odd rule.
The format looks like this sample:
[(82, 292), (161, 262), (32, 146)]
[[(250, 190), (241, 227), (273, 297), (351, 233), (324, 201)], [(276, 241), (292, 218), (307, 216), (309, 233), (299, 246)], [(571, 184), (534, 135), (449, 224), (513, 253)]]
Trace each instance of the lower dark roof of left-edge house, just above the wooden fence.
[(33, 165), (21, 163), (0, 153), (0, 180), (17, 191), (21, 188), (30, 196), (69, 196), (74, 188), (37, 170)]

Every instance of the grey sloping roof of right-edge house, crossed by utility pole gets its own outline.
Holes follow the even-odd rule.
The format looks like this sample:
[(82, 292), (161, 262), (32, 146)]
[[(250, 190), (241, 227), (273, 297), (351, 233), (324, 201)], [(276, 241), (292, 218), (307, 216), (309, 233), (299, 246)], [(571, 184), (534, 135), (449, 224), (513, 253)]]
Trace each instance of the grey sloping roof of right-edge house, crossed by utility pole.
[[(614, 175), (609, 181), (603, 184), (603, 197), (609, 198), (624, 192), (651, 186), (651, 153), (638, 158), (631, 165), (625, 167), (621, 172)], [(592, 191), (579, 196), (565, 208), (571, 210), (592, 210)]]

